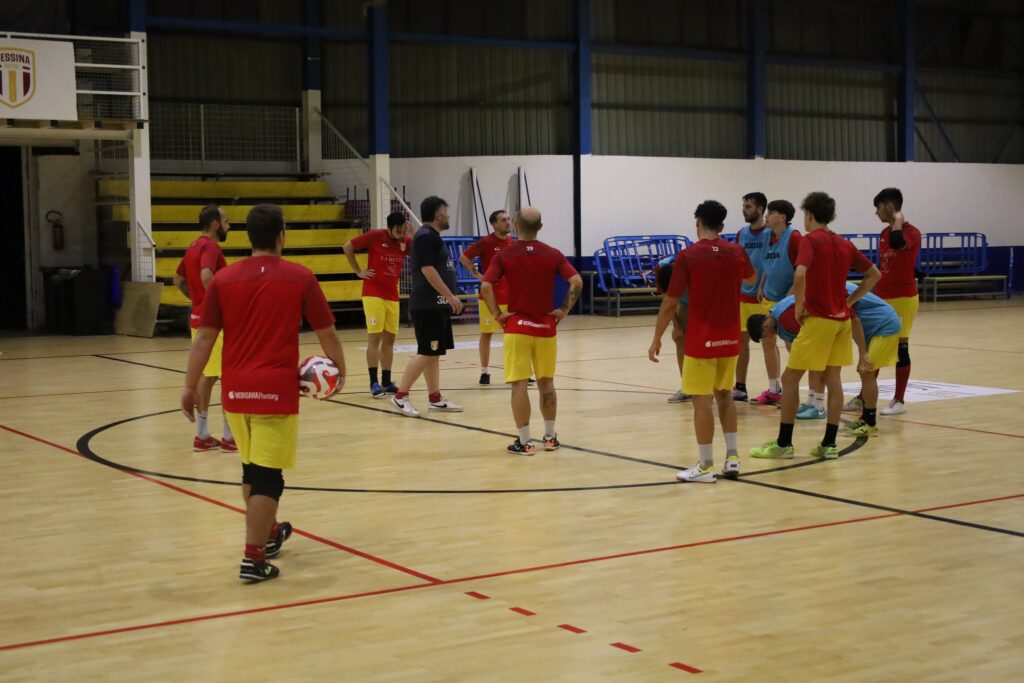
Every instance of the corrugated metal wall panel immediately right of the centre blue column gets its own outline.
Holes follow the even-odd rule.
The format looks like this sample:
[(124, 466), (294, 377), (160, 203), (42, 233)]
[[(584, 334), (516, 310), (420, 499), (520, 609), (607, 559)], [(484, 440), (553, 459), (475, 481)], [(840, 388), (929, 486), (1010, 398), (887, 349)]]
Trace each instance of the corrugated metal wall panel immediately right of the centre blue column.
[(744, 156), (743, 65), (596, 54), (593, 69), (594, 154)]

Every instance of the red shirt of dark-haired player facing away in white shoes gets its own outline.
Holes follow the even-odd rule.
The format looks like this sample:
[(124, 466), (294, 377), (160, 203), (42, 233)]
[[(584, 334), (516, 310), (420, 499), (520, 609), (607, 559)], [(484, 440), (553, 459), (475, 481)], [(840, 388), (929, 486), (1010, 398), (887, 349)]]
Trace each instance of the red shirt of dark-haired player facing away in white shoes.
[(686, 355), (725, 358), (739, 354), (739, 287), (757, 271), (746, 252), (721, 238), (700, 240), (679, 252), (669, 296), (690, 293)]

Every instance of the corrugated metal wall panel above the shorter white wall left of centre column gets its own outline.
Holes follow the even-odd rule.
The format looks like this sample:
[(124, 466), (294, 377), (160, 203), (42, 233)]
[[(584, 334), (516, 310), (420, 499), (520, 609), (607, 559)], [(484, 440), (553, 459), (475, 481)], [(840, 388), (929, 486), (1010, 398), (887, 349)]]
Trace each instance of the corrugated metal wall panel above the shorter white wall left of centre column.
[(571, 153), (569, 55), (392, 45), (391, 154)]

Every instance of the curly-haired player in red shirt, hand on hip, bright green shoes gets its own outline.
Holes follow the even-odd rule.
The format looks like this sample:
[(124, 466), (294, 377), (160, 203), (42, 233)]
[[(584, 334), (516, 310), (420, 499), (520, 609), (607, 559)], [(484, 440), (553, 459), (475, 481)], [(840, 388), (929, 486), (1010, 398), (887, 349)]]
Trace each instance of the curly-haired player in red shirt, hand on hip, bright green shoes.
[[(804, 239), (793, 279), (794, 313), (800, 333), (790, 349), (782, 373), (782, 415), (778, 438), (751, 451), (755, 458), (793, 458), (793, 425), (800, 402), (800, 380), (804, 373), (824, 373), (827, 387), (825, 435), (811, 449), (815, 458), (838, 458), (836, 435), (843, 413), (843, 366), (853, 365), (851, 308), (879, 282), (882, 273), (853, 244), (828, 229), (836, 219), (836, 200), (824, 193), (811, 193), (800, 207), (804, 210)], [(853, 268), (864, 273), (853, 294), (846, 278)]]

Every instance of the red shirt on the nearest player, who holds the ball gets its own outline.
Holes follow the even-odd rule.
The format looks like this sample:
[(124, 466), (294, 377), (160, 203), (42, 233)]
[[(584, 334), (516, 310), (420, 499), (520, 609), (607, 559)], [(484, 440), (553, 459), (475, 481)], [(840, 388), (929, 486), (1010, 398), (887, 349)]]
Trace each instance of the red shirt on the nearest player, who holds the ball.
[(299, 329), (334, 326), (312, 271), (280, 256), (252, 256), (218, 272), (200, 326), (224, 331), (221, 400), (229, 413), (299, 412)]

